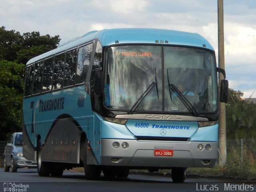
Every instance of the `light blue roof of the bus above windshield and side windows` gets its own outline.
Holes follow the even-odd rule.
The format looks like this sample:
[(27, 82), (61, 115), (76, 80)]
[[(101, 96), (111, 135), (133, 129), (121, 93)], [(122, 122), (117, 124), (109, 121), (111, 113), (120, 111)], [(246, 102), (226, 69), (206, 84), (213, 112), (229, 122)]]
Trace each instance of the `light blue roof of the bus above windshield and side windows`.
[(88, 32), (83, 36), (74, 38), (64, 44), (60, 44), (58, 48), (30, 59), (27, 62), (27, 65), (54, 54), (58, 54), (70, 48), (79, 46), (80, 44), (90, 42), (94, 39), (99, 40), (102, 46), (142, 43), (196, 46), (214, 50), (211, 44), (197, 33), (150, 28), (103, 29), (99, 31)]

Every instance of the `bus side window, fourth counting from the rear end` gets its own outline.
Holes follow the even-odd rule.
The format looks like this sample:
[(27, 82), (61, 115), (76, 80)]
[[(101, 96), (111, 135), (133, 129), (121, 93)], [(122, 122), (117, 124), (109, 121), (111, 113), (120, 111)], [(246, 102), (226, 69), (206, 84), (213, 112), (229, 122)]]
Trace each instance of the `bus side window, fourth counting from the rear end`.
[(55, 56), (52, 89), (62, 88), (65, 53)]

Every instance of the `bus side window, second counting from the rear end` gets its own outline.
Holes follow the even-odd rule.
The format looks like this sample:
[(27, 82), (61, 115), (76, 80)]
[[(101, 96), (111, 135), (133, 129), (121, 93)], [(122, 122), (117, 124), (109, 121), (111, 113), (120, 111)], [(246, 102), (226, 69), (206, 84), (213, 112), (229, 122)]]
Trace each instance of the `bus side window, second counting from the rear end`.
[(40, 61), (35, 64), (33, 94), (37, 94), (41, 92), (42, 74), (43, 74), (43, 61)]

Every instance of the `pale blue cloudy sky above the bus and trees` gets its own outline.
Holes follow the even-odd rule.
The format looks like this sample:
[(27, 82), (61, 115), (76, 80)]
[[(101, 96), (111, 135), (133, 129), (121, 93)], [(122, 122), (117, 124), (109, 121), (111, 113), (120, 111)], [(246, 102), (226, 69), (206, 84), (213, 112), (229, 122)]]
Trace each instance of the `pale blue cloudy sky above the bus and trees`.
[[(224, 1), (229, 88), (256, 98), (256, 0)], [(60, 43), (105, 28), (195, 32), (214, 47), (218, 65), (217, 0), (0, 0), (0, 26), (21, 34), (59, 35)]]

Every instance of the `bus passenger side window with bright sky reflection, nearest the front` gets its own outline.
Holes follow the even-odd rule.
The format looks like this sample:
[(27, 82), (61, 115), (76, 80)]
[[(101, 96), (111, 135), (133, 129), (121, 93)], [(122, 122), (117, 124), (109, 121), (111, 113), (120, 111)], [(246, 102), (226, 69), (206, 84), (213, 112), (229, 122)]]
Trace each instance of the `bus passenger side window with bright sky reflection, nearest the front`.
[(76, 67), (76, 84), (85, 82), (91, 56), (92, 43), (79, 48)]

